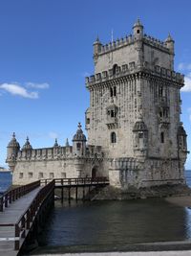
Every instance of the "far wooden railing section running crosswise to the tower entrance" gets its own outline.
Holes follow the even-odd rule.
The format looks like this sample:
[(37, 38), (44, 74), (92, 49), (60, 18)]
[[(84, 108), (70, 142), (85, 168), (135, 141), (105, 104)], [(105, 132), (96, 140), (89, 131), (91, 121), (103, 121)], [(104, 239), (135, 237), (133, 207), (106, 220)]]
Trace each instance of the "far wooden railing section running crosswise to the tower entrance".
[(108, 177), (97, 176), (97, 177), (77, 177), (77, 178), (46, 178), (40, 179), (41, 185), (46, 185), (54, 180), (55, 186), (74, 186), (74, 185), (96, 185), (109, 183)]

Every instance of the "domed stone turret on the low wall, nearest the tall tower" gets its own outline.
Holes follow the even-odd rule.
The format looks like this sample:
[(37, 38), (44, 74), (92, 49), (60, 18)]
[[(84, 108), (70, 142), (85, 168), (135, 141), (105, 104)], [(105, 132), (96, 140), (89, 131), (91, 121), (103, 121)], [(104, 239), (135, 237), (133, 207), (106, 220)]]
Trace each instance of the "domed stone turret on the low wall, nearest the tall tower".
[(83, 156), (86, 152), (86, 136), (83, 134), (81, 124), (78, 123), (78, 128), (73, 137), (73, 153), (77, 156)]

